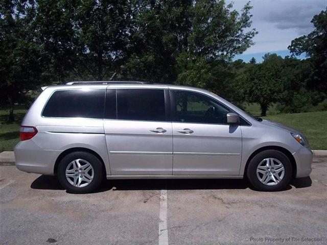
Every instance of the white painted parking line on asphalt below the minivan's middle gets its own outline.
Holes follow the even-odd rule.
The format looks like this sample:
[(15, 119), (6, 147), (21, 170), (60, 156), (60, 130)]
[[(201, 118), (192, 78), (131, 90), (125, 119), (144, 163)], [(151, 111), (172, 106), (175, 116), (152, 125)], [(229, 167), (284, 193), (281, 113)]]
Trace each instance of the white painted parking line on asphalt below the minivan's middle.
[(168, 245), (167, 190), (160, 191), (159, 245)]

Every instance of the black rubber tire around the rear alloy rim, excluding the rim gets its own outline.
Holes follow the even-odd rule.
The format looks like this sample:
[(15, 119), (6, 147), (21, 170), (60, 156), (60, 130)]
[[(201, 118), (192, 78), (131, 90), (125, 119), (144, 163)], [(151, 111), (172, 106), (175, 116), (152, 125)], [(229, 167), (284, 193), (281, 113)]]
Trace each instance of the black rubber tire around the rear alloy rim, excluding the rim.
[[(91, 182), (84, 187), (72, 185), (66, 179), (66, 167), (75, 159), (83, 159), (89, 162), (94, 169), (94, 177)], [(95, 155), (88, 152), (72, 152), (62, 158), (58, 166), (58, 179), (63, 188), (71, 193), (89, 193), (98, 188), (104, 177), (104, 167), (102, 162)]]

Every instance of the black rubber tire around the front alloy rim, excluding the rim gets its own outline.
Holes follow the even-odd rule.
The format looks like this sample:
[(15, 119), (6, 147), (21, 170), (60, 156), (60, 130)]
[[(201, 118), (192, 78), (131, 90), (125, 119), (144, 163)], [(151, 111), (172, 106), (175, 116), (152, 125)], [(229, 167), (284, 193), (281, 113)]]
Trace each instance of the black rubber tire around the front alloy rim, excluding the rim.
[[(284, 165), (285, 173), (281, 181), (275, 185), (266, 185), (262, 183), (259, 178), (256, 176), (256, 169), (261, 161), (265, 158), (275, 158), (281, 161)], [(251, 185), (256, 190), (261, 191), (278, 191), (283, 190), (290, 183), (292, 177), (292, 164), (289, 158), (282, 152), (276, 150), (266, 150), (256, 154), (251, 161), (249, 162), (246, 169), (246, 176), (251, 183)]]

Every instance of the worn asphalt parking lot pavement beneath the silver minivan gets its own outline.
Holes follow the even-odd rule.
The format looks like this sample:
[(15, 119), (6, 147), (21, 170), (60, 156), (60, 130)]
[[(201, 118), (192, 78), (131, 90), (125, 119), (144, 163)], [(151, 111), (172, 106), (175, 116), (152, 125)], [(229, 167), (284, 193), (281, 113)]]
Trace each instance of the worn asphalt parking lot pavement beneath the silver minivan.
[(114, 180), (78, 195), (0, 166), (0, 243), (326, 244), (326, 176), (327, 158), (315, 158), (310, 178), (280, 192), (245, 180)]

